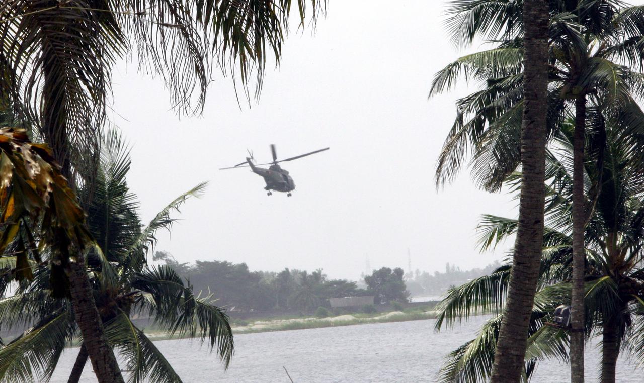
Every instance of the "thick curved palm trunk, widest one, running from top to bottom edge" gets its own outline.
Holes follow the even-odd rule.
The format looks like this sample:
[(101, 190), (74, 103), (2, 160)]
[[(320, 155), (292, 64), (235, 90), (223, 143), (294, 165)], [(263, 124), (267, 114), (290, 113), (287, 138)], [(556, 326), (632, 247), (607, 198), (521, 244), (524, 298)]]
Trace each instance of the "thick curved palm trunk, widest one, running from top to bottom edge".
[(521, 197), (507, 303), (490, 382), (521, 379), (544, 238), (544, 172), (548, 110), (548, 2), (524, 1), (524, 114)]

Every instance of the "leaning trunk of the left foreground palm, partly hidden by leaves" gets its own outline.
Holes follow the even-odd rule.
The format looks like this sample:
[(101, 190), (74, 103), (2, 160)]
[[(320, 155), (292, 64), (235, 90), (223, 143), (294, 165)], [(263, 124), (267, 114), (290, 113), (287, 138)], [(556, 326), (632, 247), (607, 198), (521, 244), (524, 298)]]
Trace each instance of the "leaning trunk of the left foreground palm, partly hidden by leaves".
[[(51, 54), (46, 48), (43, 55)], [(57, 60), (48, 57), (44, 60), (44, 94), (62, 95), (63, 86), (56, 77)], [(47, 97), (43, 104), (42, 118), (44, 136), (53, 149), (56, 160), (62, 165), (64, 176), (71, 182), (71, 165), (68, 156), (68, 131), (65, 124), (66, 104), (64, 97)], [(75, 189), (75, 185), (71, 185)], [(87, 275), (85, 257), (82, 252), (76, 254), (76, 261), (70, 262), (71, 304), (76, 322), (81, 330), (83, 344), (90, 356), (91, 365), (100, 383), (123, 383), (117, 360), (103, 329), (99, 311), (94, 302), (90, 279)]]

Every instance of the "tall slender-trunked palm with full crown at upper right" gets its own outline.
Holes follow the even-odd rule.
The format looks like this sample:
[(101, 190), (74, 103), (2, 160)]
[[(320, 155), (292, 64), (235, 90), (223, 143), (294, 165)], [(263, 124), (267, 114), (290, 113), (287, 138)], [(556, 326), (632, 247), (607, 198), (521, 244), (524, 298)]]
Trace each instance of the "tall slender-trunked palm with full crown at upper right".
[[(467, 10), (469, 15), (480, 12), (485, 15), (483, 19), (496, 15), (498, 21), (503, 17), (502, 20), (507, 20), (511, 26), (521, 23), (520, 16), (516, 14), (518, 10), (512, 6), (499, 7), (498, 3), (491, 5), (485, 1), (465, 3), (468, 4), (455, 8), (459, 12)], [(592, 102), (596, 109), (613, 109), (612, 113), (620, 113), (624, 129), (644, 120), (632, 95), (641, 89), (641, 75), (620, 64), (629, 62), (642, 67), (643, 50), (638, 41), (642, 40), (644, 29), (634, 19), (634, 15), (641, 16), (642, 9), (620, 10), (618, 6), (621, 3), (615, 1), (551, 2), (549, 129), (554, 129), (565, 117), (567, 107), (574, 106), (576, 113), (573, 381), (583, 380), (583, 227), (587, 216), (587, 207), (583, 205), (583, 142), (587, 102)], [(439, 182), (453, 176), (460, 166), (468, 140), (475, 145), (475, 175), (484, 187), (498, 189), (500, 180), (518, 165), (520, 134), (516, 116), (524, 102), (520, 62), (523, 42), (516, 31), (507, 33), (504, 39), (493, 50), (468, 55), (450, 64), (434, 80), (432, 91), (441, 91), (449, 87), (458, 71), (465, 67), (466, 73), (473, 73), (489, 84), (488, 89), (460, 100), (459, 116), (439, 159)], [(464, 117), (468, 113), (473, 117), (466, 120)], [(593, 120), (596, 125), (591, 128), (601, 129), (601, 121)]]

